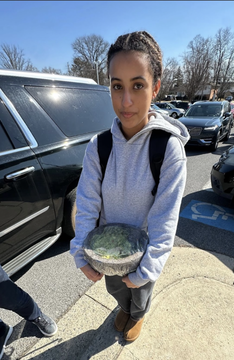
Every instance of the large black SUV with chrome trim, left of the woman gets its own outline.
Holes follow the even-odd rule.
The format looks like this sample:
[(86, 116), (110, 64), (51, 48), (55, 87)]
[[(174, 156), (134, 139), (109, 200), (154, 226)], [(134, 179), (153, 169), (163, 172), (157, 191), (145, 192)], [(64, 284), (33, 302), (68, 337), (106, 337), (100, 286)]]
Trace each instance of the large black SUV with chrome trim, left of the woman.
[(0, 264), (12, 275), (74, 235), (88, 142), (115, 117), (91, 79), (0, 70)]

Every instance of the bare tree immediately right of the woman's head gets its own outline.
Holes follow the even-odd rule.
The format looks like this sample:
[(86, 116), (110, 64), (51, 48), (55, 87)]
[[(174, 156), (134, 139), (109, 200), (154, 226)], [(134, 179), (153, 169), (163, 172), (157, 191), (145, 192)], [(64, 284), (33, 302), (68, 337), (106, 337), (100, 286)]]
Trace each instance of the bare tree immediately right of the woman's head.
[(178, 62), (175, 58), (167, 58), (162, 70), (161, 86), (157, 99), (159, 101), (165, 98), (165, 95), (171, 91), (175, 84), (176, 72), (178, 70)]

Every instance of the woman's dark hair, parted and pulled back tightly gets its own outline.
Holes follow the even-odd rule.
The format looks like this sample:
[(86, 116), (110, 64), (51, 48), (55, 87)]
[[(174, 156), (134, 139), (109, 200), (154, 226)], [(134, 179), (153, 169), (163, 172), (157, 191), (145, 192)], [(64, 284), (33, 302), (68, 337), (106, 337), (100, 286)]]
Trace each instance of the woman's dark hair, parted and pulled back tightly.
[(154, 85), (162, 76), (162, 51), (159, 44), (147, 31), (135, 31), (129, 34), (121, 35), (111, 44), (107, 54), (107, 74), (110, 78), (110, 61), (115, 54), (120, 51), (140, 51), (144, 53), (152, 69), (153, 83)]

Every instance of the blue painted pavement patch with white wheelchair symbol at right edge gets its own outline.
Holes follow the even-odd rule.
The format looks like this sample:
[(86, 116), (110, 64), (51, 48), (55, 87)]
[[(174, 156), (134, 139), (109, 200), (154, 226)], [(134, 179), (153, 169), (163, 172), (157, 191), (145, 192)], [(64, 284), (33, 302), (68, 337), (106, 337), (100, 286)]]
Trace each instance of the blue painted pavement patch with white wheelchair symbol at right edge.
[(234, 210), (215, 204), (192, 200), (180, 213), (181, 217), (233, 231)]

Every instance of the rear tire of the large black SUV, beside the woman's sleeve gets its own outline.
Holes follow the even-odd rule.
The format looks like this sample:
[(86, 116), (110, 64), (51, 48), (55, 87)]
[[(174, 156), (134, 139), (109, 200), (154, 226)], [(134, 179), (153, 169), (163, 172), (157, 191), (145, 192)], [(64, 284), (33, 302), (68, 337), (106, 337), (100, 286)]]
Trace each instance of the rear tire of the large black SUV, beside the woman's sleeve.
[(63, 207), (63, 232), (74, 238), (75, 236), (75, 215), (77, 213), (76, 207), (76, 190), (73, 189), (69, 194), (64, 198), (64, 207)]

